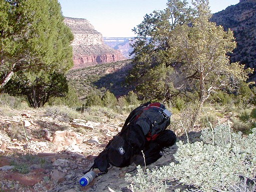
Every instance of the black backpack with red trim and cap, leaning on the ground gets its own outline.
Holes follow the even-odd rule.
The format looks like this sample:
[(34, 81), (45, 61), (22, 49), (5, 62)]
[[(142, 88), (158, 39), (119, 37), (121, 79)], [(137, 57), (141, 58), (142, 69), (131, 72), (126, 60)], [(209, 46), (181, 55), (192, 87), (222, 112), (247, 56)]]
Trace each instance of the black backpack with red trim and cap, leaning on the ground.
[(106, 173), (110, 164), (117, 167), (130, 165), (133, 162), (132, 157), (143, 149), (144, 144), (154, 140), (166, 129), (170, 124), (170, 115), (171, 112), (159, 102), (147, 102), (133, 109), (121, 131), (109, 140), (103, 151), (94, 159), (90, 169), (98, 168), (102, 173)]

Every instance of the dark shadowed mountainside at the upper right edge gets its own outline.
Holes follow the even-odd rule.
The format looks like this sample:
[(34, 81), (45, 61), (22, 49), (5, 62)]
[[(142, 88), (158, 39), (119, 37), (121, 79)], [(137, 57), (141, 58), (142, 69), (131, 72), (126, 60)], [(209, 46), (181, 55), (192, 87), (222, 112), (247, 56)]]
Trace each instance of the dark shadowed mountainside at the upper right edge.
[(256, 0), (240, 0), (239, 3), (214, 13), (211, 21), (234, 32), (237, 47), (230, 54), (230, 60), (254, 68), (248, 81), (256, 82)]

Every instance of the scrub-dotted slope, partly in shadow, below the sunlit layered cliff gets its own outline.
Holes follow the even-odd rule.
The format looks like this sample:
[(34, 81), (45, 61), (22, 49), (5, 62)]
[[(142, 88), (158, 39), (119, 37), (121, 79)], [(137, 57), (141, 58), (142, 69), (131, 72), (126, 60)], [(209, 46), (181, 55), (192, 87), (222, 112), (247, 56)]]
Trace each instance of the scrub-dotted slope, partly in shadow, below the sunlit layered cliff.
[(77, 90), (80, 98), (84, 98), (95, 89), (100, 91), (100, 96), (106, 90), (109, 90), (116, 97), (119, 97), (131, 90), (129, 83), (125, 84), (127, 69), (130, 68), (131, 64), (130, 60), (122, 60), (71, 69), (68, 71), (67, 77), (70, 84)]

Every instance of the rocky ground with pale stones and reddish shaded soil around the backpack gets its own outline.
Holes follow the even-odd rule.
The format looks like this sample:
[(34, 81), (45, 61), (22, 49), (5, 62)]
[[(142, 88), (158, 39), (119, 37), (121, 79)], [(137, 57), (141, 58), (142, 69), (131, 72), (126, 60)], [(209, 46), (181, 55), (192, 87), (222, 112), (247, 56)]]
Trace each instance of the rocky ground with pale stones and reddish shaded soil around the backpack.
[[(125, 118), (67, 120), (45, 109), (0, 108), (0, 191), (131, 191), (125, 173), (135, 174), (134, 164), (112, 167), (88, 186), (78, 184)], [(191, 136), (198, 139), (199, 133)], [(173, 161), (176, 148), (147, 168)]]

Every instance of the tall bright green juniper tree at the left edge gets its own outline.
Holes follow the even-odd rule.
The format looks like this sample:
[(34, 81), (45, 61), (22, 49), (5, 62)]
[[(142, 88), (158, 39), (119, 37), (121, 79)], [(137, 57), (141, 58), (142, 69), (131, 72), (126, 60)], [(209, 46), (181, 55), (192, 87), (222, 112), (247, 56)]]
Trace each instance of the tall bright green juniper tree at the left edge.
[[(12, 93), (26, 95), (34, 107), (42, 106), (48, 93), (44, 92), (43, 100), (38, 100), (41, 94), (31, 100), (31, 94), (37, 91), (31, 87), (41, 86), (43, 90), (46, 84), (48, 87), (43, 91), (49, 91), (49, 80), (56, 77), (53, 74), (63, 74), (73, 65), (73, 35), (63, 22), (60, 4), (57, 0), (2, 0), (0, 9), (0, 89), (16, 74), (9, 85), (13, 87)], [(53, 83), (55, 89), (56, 81)], [(23, 90), (16, 93), (14, 85), (17, 91)], [(53, 89), (50, 91), (54, 92)]]

